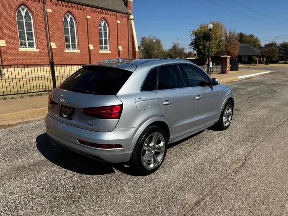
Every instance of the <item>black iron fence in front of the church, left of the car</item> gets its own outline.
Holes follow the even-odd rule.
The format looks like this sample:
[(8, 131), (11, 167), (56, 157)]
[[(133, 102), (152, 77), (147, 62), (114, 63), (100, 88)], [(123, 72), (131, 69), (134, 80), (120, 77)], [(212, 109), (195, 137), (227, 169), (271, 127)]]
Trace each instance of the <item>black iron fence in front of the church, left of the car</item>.
[(0, 65), (0, 96), (51, 91), (83, 64)]

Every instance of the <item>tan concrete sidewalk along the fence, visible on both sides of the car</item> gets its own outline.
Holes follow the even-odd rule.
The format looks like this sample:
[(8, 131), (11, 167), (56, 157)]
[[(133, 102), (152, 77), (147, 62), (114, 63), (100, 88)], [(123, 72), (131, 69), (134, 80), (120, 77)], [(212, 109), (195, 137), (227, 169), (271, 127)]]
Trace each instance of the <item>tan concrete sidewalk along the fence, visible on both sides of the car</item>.
[[(245, 79), (245, 76), (258, 74), (259, 72), (262, 71), (242, 70), (229, 72), (229, 74), (212, 73), (211, 77), (219, 79), (220, 83), (225, 83)], [(48, 95), (0, 100), (0, 125), (17, 124), (23, 121), (44, 118), (47, 114), (47, 100)]]

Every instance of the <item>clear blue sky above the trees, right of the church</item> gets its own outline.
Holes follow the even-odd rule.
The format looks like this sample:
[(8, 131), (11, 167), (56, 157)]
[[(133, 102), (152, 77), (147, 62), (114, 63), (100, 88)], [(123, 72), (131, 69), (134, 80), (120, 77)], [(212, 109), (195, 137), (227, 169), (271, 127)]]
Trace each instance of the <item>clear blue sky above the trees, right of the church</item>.
[(133, 13), (138, 43), (140, 43), (140, 37), (150, 34), (158, 37), (163, 43), (163, 48), (168, 49), (173, 41), (177, 42), (177, 38), (180, 38), (180, 45), (184, 46), (188, 52), (191, 50), (189, 31), (196, 29), (201, 23), (209, 23), (213, 20), (224, 22), (227, 29), (232, 28), (237, 32), (254, 34), (261, 40), (262, 45), (273, 39), (277, 43), (288, 41), (288, 0), (210, 1), (265, 22), (220, 7), (207, 0), (134, 0)]

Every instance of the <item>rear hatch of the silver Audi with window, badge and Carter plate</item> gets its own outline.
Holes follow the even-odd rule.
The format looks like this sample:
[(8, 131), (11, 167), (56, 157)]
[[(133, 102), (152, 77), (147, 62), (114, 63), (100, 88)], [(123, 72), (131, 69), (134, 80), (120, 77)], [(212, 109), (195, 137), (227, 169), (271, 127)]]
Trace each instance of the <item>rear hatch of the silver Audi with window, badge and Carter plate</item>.
[[(75, 127), (109, 132), (115, 129), (123, 108), (116, 96), (136, 69), (117, 65), (86, 65), (54, 89), (48, 114)], [(133, 70), (133, 71), (131, 71)]]

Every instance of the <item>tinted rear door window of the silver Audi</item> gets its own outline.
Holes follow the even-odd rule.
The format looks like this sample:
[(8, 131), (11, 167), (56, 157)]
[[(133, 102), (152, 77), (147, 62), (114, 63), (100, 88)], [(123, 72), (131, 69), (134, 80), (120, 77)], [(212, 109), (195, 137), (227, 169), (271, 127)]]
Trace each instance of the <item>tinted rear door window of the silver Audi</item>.
[(160, 67), (158, 80), (158, 89), (185, 87), (182, 75), (177, 65)]

